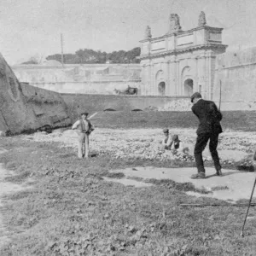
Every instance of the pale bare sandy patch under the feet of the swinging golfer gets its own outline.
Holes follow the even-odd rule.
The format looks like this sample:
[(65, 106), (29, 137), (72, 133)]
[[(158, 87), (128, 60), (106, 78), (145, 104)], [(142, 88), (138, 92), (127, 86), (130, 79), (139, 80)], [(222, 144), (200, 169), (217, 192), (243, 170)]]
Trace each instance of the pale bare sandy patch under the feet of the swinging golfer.
[[(136, 171), (135, 171), (136, 169)], [(196, 173), (195, 168), (155, 168), (155, 167), (136, 167), (111, 172), (122, 172), (125, 174), (124, 179), (113, 178), (111, 181), (132, 185), (132, 177), (142, 177), (144, 181), (148, 178), (155, 179), (172, 179), (177, 183), (193, 183), (197, 189), (207, 189), (209, 194), (200, 194), (187, 192), (188, 195), (207, 196), (226, 201), (238, 201), (240, 199), (249, 199), (253, 189), (255, 172), (239, 172), (236, 170), (223, 170), (223, 177), (215, 175), (214, 168), (207, 168), (206, 179), (191, 179), (190, 176)], [(120, 182), (121, 181), (121, 182)], [(134, 186), (147, 186), (148, 183), (137, 183)], [(219, 190), (218, 190), (219, 189)], [(256, 193), (254, 195), (256, 197)]]

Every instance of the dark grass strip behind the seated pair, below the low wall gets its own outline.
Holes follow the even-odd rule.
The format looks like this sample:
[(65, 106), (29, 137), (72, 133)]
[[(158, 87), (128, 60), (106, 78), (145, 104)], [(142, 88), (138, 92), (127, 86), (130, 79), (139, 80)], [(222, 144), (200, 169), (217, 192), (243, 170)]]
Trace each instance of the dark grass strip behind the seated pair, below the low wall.
[[(92, 119), (99, 128), (196, 128), (198, 120), (192, 112), (101, 112)], [(224, 130), (256, 131), (256, 112), (223, 112)]]

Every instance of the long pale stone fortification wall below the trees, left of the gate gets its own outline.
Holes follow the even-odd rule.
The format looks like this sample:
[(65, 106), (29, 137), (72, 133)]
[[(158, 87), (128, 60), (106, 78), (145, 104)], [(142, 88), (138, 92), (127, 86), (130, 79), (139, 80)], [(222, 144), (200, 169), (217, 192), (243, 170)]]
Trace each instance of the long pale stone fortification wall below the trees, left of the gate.
[(140, 89), (139, 64), (73, 64), (12, 67), (21, 82), (60, 93), (114, 94), (130, 85)]

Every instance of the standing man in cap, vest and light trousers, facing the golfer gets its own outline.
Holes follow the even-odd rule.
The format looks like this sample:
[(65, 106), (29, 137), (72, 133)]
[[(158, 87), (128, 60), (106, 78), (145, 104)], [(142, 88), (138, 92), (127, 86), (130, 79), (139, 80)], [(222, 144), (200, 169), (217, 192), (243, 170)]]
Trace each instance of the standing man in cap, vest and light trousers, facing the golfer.
[(81, 113), (81, 119), (76, 121), (72, 129), (76, 129), (78, 132), (78, 156), (80, 159), (83, 157), (89, 157), (89, 135), (91, 131), (94, 131), (94, 126), (91, 125), (90, 120), (87, 119), (88, 113)]

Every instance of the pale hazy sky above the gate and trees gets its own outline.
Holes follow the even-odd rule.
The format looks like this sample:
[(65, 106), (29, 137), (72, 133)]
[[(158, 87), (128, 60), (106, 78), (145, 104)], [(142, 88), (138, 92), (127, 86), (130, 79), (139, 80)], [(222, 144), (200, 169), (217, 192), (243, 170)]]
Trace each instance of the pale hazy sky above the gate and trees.
[(224, 28), (227, 50), (256, 46), (255, 0), (1, 0), (0, 52), (9, 65), (58, 54), (61, 33), (64, 53), (128, 50), (140, 46), (146, 26), (160, 37), (176, 13), (189, 30), (201, 11), (208, 26)]

